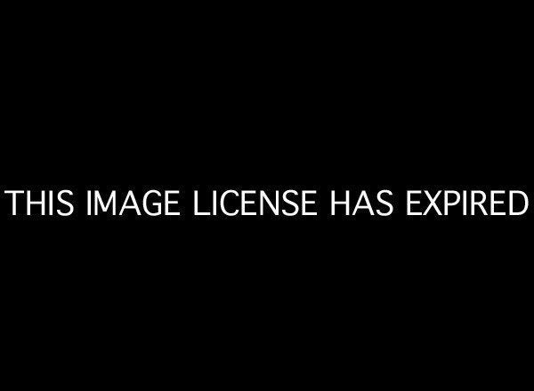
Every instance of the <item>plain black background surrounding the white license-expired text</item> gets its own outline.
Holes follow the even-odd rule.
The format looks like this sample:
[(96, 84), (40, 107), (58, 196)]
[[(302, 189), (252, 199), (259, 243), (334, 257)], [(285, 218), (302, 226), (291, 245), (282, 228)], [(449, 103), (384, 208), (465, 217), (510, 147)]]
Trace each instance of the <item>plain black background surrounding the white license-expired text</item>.
[[(403, 194), (531, 196), (527, 26), (480, 10), (220, 11), (13, 21), (2, 189), (317, 188), (320, 218), (4, 213), (11, 367), (329, 385), (522, 371), (531, 211), (409, 219)], [(330, 189), (381, 188), (392, 218), (328, 218)]]

